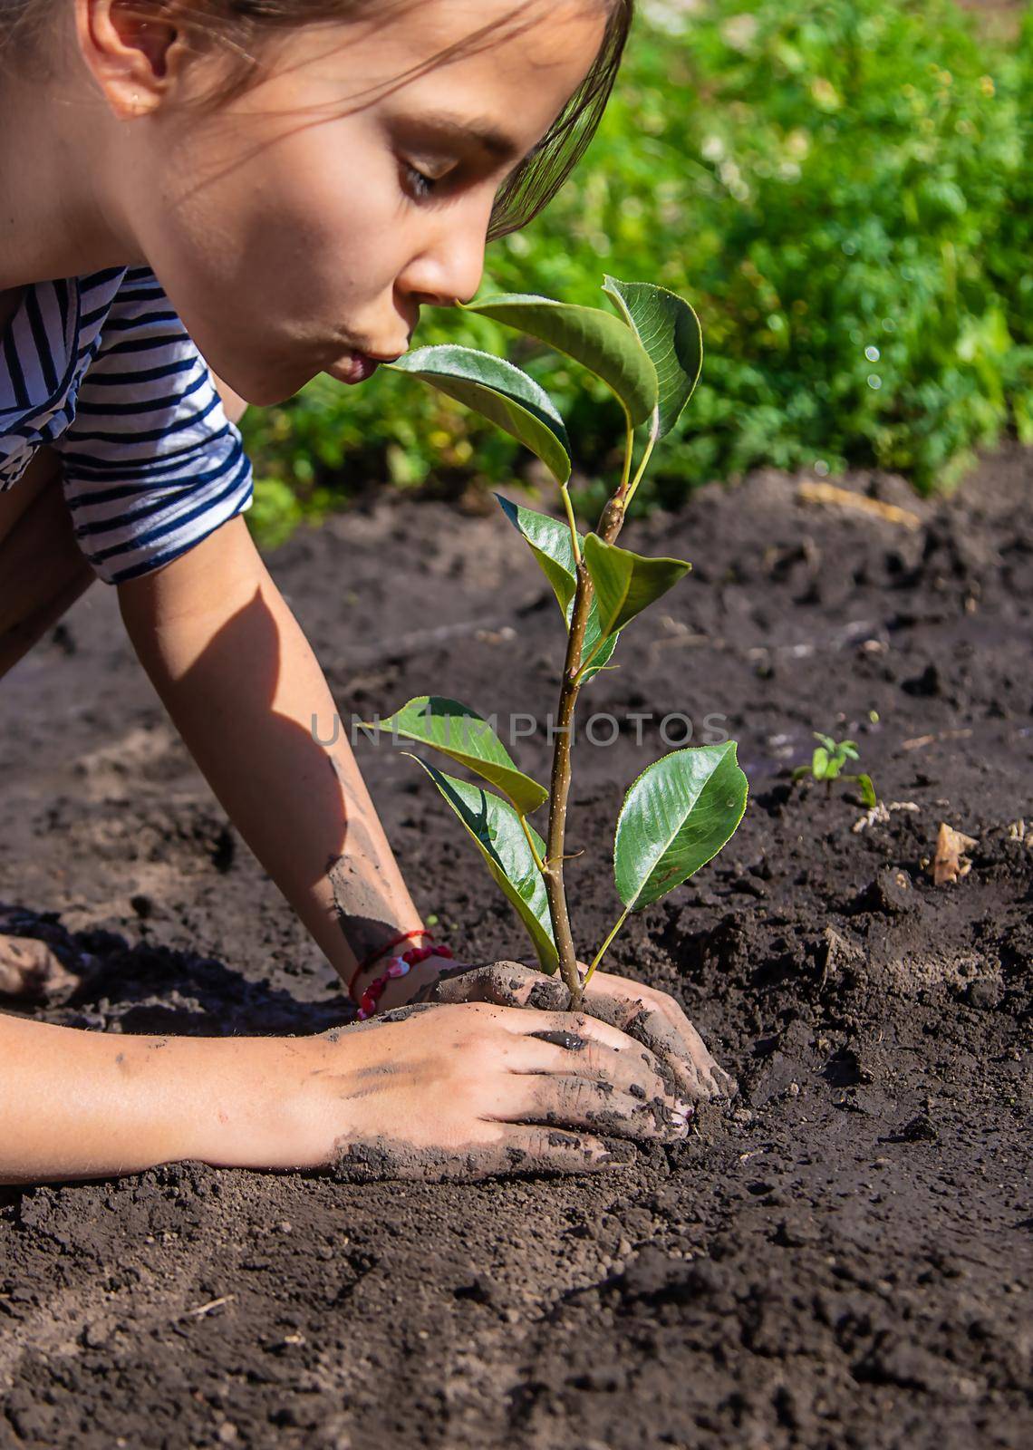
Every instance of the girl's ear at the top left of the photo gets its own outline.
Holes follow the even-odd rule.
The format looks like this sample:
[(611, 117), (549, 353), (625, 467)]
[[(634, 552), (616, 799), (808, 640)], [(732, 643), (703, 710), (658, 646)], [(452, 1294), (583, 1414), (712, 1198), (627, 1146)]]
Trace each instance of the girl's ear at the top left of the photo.
[(75, 0), (86, 65), (120, 120), (158, 109), (176, 86), (189, 48), (154, 0)]

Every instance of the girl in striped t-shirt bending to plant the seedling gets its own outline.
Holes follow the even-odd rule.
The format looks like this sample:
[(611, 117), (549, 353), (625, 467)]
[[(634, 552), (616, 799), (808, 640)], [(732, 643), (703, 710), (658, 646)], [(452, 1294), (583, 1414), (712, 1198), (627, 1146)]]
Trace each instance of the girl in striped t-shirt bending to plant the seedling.
[[(370, 1018), (155, 1040), (0, 1014), (0, 1182), (373, 1148), (438, 1176), (598, 1169), (601, 1112), (679, 1138), (728, 1086), (663, 993), (596, 974), (606, 1021), (531, 1009), (534, 974), (431, 940), (347, 740), (313, 740), (334, 703), (242, 516), (245, 403), (361, 383), (422, 304), (473, 297), (486, 239), (586, 145), (630, 19), (631, 0), (0, 0), (0, 673), (94, 577), (116, 587), (194, 760)], [(0, 938), (9, 1000), (30, 961)]]

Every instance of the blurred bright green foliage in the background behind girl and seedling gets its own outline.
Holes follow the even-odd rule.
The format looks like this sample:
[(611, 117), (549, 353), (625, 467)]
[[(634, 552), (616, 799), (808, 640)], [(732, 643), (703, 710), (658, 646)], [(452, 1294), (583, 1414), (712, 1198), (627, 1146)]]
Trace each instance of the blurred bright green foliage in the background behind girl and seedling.
[[(878, 464), (929, 490), (1007, 426), (1033, 442), (1033, 13), (1014, 44), (978, 38), (949, 0), (653, 0), (650, 16), (579, 173), (489, 248), (482, 296), (604, 306), (608, 271), (692, 302), (704, 374), (654, 494), (759, 464)], [(486, 319), (425, 312), (418, 344), (444, 341), (519, 362), (580, 470), (617, 465), (602, 386)], [(245, 434), (280, 534), (370, 480), (496, 481), (527, 463), (386, 371), (318, 378)]]

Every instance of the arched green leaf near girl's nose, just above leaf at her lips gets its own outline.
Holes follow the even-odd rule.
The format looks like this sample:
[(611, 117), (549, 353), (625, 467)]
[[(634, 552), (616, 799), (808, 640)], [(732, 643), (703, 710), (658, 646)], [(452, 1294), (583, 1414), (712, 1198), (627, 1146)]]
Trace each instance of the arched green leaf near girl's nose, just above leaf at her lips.
[(611, 312), (530, 293), (485, 297), (464, 310), (527, 332), (580, 362), (614, 390), (633, 426), (653, 413), (659, 397), (653, 360), (634, 329)]

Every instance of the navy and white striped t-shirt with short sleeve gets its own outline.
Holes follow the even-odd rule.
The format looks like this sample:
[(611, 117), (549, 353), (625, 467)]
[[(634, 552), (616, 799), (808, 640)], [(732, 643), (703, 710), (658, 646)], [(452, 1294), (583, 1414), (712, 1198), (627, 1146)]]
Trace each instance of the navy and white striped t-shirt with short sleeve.
[(0, 342), (0, 490), (61, 455), (75, 538), (120, 584), (251, 506), (251, 465), (154, 273), (28, 287)]

